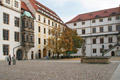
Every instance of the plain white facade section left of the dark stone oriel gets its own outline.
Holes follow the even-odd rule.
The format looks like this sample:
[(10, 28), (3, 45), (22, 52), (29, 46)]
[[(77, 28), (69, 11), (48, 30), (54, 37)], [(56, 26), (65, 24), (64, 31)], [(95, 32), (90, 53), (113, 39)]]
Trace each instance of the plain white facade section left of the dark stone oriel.
[(0, 0), (0, 60), (20, 46), (21, 0)]

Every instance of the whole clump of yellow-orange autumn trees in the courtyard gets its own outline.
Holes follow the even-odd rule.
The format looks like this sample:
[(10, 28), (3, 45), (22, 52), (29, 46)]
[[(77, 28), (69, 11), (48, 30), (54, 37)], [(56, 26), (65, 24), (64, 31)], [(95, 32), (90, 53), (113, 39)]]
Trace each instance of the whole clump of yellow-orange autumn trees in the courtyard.
[(75, 30), (66, 28), (64, 31), (60, 27), (54, 27), (51, 31), (52, 36), (48, 39), (47, 48), (59, 54), (67, 51), (76, 53), (77, 48), (81, 48), (83, 39), (77, 35)]

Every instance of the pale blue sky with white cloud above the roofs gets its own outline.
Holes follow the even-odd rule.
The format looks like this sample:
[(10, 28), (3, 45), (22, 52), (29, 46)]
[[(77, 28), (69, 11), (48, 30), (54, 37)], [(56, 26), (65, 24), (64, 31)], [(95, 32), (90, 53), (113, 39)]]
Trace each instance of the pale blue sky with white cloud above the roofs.
[(83, 13), (119, 7), (120, 0), (37, 0), (68, 22)]

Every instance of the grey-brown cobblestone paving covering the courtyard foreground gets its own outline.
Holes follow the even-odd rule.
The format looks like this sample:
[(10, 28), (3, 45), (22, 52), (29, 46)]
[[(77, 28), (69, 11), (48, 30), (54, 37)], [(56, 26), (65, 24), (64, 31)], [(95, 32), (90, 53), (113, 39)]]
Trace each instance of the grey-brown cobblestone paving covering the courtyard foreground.
[(7, 62), (0, 61), (0, 80), (110, 80), (118, 65), (27, 60), (8, 66)]

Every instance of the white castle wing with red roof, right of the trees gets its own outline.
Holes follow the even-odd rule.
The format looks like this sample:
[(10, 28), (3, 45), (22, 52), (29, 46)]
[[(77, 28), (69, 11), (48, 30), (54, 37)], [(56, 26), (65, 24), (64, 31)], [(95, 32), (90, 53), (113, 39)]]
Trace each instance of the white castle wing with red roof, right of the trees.
[(120, 7), (79, 14), (66, 25), (84, 38), (86, 56), (120, 56)]

